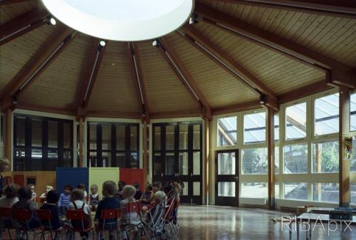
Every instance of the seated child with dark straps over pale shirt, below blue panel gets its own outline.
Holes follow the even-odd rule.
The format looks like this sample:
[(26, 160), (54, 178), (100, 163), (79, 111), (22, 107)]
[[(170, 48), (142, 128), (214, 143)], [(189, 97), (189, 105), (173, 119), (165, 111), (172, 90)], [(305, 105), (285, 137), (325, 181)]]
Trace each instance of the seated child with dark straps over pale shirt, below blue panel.
[[(88, 228), (90, 228), (92, 221), (91, 221), (89, 206), (88, 206), (88, 204), (86, 204), (83, 201), (83, 198), (84, 198), (83, 190), (78, 189), (78, 188), (73, 189), (73, 191), (70, 192), (71, 202), (68, 206), (68, 209), (83, 210), (85, 213), (85, 219), (83, 220), (84, 229), (88, 229)], [(81, 221), (72, 221), (71, 224), (73, 227), (80, 228), (82, 223), (81, 223)], [(86, 231), (85, 232), (82, 231), (82, 232), (80, 232), (80, 236), (82, 237), (83, 240), (84, 239), (86, 240), (89, 237), (89, 233)]]

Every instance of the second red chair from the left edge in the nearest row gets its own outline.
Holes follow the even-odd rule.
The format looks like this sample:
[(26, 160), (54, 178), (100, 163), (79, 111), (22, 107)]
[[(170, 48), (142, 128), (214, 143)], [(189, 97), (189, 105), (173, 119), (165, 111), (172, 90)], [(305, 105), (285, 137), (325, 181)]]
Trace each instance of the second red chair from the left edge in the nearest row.
[(33, 232), (33, 239), (36, 238), (36, 234), (41, 234), (41, 232), (36, 232), (37, 230), (41, 231), (41, 227), (30, 226), (31, 216), (27, 209), (14, 209), (12, 213), (13, 219), (16, 220), (16, 239), (20, 239), (21, 235), (25, 235), (28, 240), (28, 231)]

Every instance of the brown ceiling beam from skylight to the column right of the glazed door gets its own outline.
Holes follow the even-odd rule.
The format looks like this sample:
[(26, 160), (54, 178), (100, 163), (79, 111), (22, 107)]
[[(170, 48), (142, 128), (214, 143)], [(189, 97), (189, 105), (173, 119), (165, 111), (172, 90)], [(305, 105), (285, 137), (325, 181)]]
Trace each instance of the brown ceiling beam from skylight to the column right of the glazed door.
[[(268, 107), (271, 107), (275, 110), (278, 110), (277, 95), (273, 91), (264, 85), (261, 80), (258, 80), (255, 76), (249, 73), (245, 68), (243, 68), (239, 63), (237, 63), (233, 58), (231, 58), (227, 53), (221, 51), (220, 48), (216, 47), (214, 43), (209, 41), (208, 38), (204, 36), (203, 33), (197, 31), (191, 26), (183, 26), (184, 32), (192, 38), (194, 43), (201, 48), (201, 51), (205, 51), (212, 58), (215, 58), (218, 61), (220, 66), (224, 66), (226, 71), (229, 71), (232, 75), (238, 78), (242, 83), (251, 88), (258, 95), (266, 95), (268, 98)], [(273, 102), (275, 104), (273, 104)], [(261, 103), (265, 105), (265, 101)]]

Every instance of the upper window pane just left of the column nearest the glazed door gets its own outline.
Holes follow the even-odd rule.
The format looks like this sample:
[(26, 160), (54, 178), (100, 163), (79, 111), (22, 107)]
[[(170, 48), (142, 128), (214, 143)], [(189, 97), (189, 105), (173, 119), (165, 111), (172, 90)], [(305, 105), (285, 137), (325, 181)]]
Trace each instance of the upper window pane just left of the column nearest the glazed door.
[(244, 143), (266, 142), (266, 112), (244, 115)]

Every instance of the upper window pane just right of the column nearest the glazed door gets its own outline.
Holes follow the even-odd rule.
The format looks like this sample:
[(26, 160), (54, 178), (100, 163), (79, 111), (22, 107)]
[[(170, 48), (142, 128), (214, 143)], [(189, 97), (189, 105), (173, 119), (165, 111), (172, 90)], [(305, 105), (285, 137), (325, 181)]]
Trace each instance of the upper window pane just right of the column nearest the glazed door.
[(286, 108), (286, 140), (306, 137), (307, 103)]

